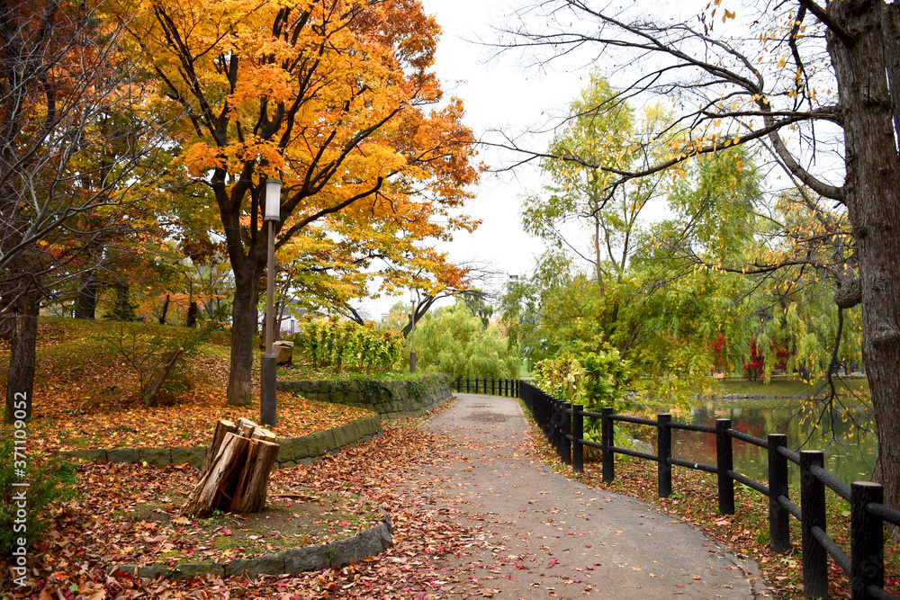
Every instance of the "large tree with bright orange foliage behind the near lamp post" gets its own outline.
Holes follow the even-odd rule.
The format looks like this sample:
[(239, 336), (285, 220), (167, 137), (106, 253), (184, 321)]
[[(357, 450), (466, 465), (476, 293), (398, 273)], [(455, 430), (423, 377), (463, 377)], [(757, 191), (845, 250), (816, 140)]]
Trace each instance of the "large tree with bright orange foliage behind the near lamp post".
[(412, 248), (473, 227), (451, 213), (477, 177), (472, 135), (462, 103), (443, 99), (429, 71), (440, 30), (414, 0), (122, 6), (135, 12), (131, 41), (162, 105), (184, 111), (193, 136), (184, 164), (210, 190), (226, 240), (235, 278), (228, 401), (244, 404), (266, 178), (283, 182), (278, 250), (317, 230)]

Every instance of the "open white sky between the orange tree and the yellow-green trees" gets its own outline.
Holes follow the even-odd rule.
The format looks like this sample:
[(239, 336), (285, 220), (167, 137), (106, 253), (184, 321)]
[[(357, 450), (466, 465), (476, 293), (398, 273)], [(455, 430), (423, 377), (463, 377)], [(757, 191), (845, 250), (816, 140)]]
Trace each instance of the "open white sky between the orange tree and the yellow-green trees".
[[(448, 94), (463, 99), (464, 122), (482, 138), (485, 130), (525, 130), (544, 124), (551, 112), (561, 112), (584, 85), (577, 73), (538, 73), (522, 64), (521, 57), (509, 53), (489, 61), (491, 49), (474, 40), (495, 40), (491, 26), (500, 27), (515, 9), (512, 0), (423, 0), (425, 10), (437, 16), (444, 35), (437, 49), (437, 76)], [(545, 148), (549, 138), (536, 140)], [(496, 152), (482, 150), (480, 158), (489, 166), (503, 160)], [(520, 198), (541, 185), (535, 168), (523, 167), (514, 174), (485, 173), (465, 212), (482, 225), (473, 234), (458, 233), (448, 246), (455, 261), (479, 259), (491, 263), (500, 273), (527, 273), (544, 246), (522, 230)], [(363, 309), (370, 318), (381, 314), (398, 300), (409, 297), (368, 300)]]

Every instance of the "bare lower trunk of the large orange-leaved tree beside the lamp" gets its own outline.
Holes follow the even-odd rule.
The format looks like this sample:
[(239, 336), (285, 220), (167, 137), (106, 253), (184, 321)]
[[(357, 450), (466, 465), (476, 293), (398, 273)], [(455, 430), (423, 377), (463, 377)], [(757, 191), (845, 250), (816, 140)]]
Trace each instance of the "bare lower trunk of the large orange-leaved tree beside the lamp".
[(235, 271), (234, 301), (231, 305), (231, 368), (227, 392), (231, 406), (244, 406), (252, 398), (253, 336), (257, 334), (260, 274), (258, 268), (249, 264), (246, 269)]

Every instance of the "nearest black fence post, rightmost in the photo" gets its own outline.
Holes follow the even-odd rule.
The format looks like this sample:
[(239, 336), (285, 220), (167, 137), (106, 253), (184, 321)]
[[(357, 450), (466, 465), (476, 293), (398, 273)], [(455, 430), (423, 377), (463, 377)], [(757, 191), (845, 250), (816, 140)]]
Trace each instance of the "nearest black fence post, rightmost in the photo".
[(851, 600), (869, 600), (869, 586), (885, 587), (884, 524), (866, 509), (869, 502), (881, 504), (884, 493), (880, 484), (871, 481), (851, 484)]

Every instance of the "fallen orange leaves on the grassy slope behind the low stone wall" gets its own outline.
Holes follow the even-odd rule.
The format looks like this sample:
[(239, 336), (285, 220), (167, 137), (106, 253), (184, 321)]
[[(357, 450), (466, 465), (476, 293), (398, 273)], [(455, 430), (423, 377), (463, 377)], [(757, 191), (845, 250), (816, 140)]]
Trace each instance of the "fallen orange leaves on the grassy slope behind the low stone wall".
[[(177, 363), (170, 376), (173, 388), (162, 393), (157, 404), (145, 407), (137, 393), (135, 373), (110, 343), (116, 327), (149, 329), (154, 335), (175, 340), (194, 335), (185, 327), (41, 318), (34, 415), (29, 425), (32, 452), (203, 446), (209, 443), (220, 418), (259, 420), (258, 400), (244, 407), (232, 407), (226, 401), (227, 332), (204, 334), (205, 341), (193, 345)], [(0, 363), (8, 360), (8, 353), (0, 353)], [(0, 369), (0, 384), (5, 383), (2, 372)], [(277, 402), (278, 425), (273, 431), (282, 439), (374, 414), (284, 392), (278, 392)], [(5, 431), (3, 427), (0, 425), (0, 432)]]

